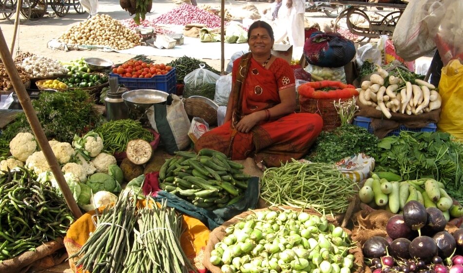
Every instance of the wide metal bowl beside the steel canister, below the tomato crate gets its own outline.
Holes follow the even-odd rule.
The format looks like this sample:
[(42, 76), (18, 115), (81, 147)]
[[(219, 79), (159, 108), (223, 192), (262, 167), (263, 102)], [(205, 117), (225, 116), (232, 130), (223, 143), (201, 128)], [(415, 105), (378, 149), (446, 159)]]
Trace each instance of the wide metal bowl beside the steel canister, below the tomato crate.
[(154, 89), (135, 89), (122, 94), (127, 107), (142, 113), (153, 104), (165, 102), (167, 96), (169, 96), (168, 93)]

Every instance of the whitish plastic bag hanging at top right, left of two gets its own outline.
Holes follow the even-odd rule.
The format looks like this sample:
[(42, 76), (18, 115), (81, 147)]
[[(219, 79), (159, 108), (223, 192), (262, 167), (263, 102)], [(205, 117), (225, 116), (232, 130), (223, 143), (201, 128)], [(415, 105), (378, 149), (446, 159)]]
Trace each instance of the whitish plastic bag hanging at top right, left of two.
[[(459, 1), (447, 2), (454, 5)], [(413, 0), (407, 4), (392, 34), (397, 55), (410, 61), (434, 50), (436, 44), (432, 39), (433, 32), (428, 27), (428, 21), (431, 17), (430, 11), (439, 4), (436, 0)], [(447, 20), (445, 16), (439, 18), (442, 19)], [(448, 20), (448, 22), (455, 22), (455, 20)], [(452, 32), (457, 29), (458, 27), (452, 29)]]

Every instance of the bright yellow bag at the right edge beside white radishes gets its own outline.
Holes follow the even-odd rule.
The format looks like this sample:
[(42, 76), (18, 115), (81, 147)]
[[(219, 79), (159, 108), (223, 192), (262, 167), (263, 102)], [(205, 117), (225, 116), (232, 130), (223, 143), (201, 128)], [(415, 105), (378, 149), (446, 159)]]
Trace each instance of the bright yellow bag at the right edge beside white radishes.
[(442, 97), (442, 112), (438, 130), (463, 141), (463, 118), (460, 114), (463, 105), (463, 64), (458, 59), (451, 60), (442, 69), (439, 94)]

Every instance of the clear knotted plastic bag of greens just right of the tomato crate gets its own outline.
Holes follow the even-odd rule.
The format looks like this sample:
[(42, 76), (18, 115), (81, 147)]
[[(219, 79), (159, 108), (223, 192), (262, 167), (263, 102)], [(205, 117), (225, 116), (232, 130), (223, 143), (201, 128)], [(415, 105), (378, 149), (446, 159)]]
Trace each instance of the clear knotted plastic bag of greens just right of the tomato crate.
[(204, 66), (203, 63), (200, 63), (198, 69), (193, 70), (183, 78), (183, 82), (185, 82), (183, 98), (202, 96), (214, 99), (215, 82), (217, 82), (220, 76), (204, 69)]

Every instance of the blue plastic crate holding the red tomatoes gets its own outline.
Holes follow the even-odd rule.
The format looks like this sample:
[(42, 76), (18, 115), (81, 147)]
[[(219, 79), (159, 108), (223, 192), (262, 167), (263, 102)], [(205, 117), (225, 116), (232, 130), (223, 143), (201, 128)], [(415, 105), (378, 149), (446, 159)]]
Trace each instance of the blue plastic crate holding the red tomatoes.
[(155, 89), (175, 94), (177, 79), (175, 78), (175, 67), (166, 75), (156, 75), (153, 78), (124, 78), (118, 74), (110, 73), (109, 77), (117, 77), (119, 84), (124, 84), (129, 90), (135, 89)]

